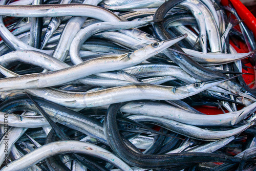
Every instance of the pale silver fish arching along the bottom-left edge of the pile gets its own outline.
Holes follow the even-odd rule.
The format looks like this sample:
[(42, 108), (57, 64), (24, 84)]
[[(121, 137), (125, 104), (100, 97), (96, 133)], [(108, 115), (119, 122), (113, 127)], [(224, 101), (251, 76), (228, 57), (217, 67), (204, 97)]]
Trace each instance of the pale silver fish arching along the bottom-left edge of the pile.
[[(11, 164), (8, 164), (8, 167), (4, 167), (2, 171), (26, 169), (41, 160), (61, 153), (86, 154), (104, 159), (122, 170), (132, 170), (129, 165), (124, 163), (121, 159), (119, 159), (109, 151), (106, 151), (104, 148), (93, 145), (91, 143), (67, 140), (42, 145), (28, 155), (13, 161)], [(17, 165), (19, 166), (18, 168)]]

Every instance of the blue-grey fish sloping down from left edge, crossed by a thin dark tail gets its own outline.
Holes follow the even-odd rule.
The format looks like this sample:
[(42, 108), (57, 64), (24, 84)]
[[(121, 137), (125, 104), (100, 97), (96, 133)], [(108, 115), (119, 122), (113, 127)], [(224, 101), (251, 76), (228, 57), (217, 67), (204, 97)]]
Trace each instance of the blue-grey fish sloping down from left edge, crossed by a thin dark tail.
[[(92, 118), (86, 117), (80, 113), (69, 110), (63, 106), (49, 103), (48, 101), (34, 98), (34, 100), (46, 111), (54, 121), (63, 125), (67, 125), (74, 130), (87, 134), (90, 137), (96, 138), (100, 142), (106, 143), (103, 133), (102, 123)], [(28, 105), (29, 104), (29, 105)], [(38, 109), (28, 98), (19, 97), (10, 99), (2, 103), (0, 111), (15, 112), (15, 111), (33, 111), (39, 113)]]

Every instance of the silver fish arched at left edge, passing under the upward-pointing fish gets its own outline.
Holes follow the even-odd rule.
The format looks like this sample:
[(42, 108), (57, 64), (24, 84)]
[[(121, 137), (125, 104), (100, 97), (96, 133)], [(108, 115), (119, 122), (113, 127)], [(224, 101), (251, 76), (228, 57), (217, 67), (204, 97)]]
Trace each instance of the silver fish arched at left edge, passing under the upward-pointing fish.
[[(0, 63), (4, 67), (9, 67), (18, 62), (25, 62), (31, 65), (36, 65), (44, 69), (47, 69), (48, 71), (55, 71), (55, 70), (60, 70), (63, 68), (70, 67), (69, 65), (67, 65), (67, 63), (61, 62), (60, 60), (50, 55), (47, 55), (45, 53), (41, 53), (38, 51), (30, 51), (30, 50), (13, 51), (1, 56), (1, 59), (0, 59)], [(7, 72), (4, 73), (2, 71), (2, 73), (6, 75), (5, 73)], [(8, 71), (8, 73), (10, 74), (11, 71)], [(115, 87), (115, 86), (124, 86), (132, 83), (140, 83), (137, 80), (137, 78), (123, 71), (96, 73), (96, 75), (99, 75), (101, 77), (88, 76), (88, 77), (79, 79), (78, 81), (83, 84), (98, 85), (102, 87)], [(16, 74), (13, 74), (13, 76), (16, 76)]]

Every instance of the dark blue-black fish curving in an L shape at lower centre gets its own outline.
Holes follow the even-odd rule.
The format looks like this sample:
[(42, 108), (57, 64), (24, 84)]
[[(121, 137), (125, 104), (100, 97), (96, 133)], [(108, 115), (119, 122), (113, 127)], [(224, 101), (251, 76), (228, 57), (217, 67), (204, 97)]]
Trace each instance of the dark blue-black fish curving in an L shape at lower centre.
[[(220, 155), (206, 155), (204, 153), (181, 153), (181, 154), (168, 154), (168, 155), (141, 155), (134, 153), (129, 149), (125, 148), (125, 144), (121, 140), (120, 134), (116, 131), (116, 115), (122, 103), (111, 104), (108, 113), (104, 120), (104, 133), (108, 138), (108, 142), (117, 153), (117, 155), (123, 159), (126, 163), (135, 165), (141, 168), (160, 168), (166, 166), (177, 165), (179, 162), (194, 163), (204, 160), (218, 161), (222, 160), (225, 162), (239, 162), (237, 158), (226, 158)], [(118, 147), (117, 147), (118, 146)], [(218, 158), (220, 157), (220, 158)], [(175, 158), (175, 159), (174, 159)]]

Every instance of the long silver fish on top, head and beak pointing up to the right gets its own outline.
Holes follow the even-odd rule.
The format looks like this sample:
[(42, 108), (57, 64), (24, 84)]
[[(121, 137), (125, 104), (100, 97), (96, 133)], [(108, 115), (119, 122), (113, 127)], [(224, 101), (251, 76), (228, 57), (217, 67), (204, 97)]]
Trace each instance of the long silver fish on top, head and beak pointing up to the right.
[[(176, 39), (156, 42), (132, 53), (88, 60), (80, 63), (79, 65), (62, 70), (2, 78), (0, 79), (0, 91), (56, 86), (58, 84), (77, 80), (91, 74), (120, 70), (126, 67), (134, 66), (175, 44), (184, 37), (186, 37), (186, 35), (180, 36)], [(10, 84), (12, 87), (10, 87)]]

